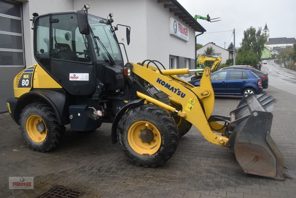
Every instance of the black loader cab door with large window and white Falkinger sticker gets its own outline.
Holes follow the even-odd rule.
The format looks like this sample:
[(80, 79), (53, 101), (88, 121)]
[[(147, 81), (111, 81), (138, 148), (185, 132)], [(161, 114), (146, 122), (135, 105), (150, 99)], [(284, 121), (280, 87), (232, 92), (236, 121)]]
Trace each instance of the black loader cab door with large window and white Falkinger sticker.
[(74, 13), (51, 15), (50, 73), (71, 94), (94, 90), (89, 39), (79, 32)]

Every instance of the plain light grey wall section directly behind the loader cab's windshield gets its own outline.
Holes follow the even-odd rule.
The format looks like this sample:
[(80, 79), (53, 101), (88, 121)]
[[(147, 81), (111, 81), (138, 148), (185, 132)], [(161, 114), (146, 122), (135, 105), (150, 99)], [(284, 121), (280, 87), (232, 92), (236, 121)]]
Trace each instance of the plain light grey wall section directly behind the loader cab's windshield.
[[(73, 2), (74, 10), (81, 9), (85, 4), (81, 0), (74, 0)], [(113, 13), (113, 26), (122, 24), (131, 27), (131, 42), (129, 45), (126, 43), (126, 27), (118, 26), (118, 31), (115, 32), (118, 41), (125, 44), (130, 62), (138, 63), (147, 58), (147, 15), (144, 0), (89, 0), (86, 3), (90, 5), (89, 14), (107, 18), (109, 13)], [(120, 47), (126, 63), (124, 48), (122, 45)]]

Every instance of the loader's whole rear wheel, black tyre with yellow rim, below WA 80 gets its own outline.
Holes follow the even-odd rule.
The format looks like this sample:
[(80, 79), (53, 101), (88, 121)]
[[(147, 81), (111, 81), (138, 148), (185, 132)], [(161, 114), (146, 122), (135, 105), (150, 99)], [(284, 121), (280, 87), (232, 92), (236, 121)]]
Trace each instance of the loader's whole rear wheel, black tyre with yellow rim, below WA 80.
[(52, 108), (46, 103), (38, 102), (25, 106), (19, 122), (25, 142), (38, 152), (51, 151), (65, 137), (66, 127), (58, 124)]

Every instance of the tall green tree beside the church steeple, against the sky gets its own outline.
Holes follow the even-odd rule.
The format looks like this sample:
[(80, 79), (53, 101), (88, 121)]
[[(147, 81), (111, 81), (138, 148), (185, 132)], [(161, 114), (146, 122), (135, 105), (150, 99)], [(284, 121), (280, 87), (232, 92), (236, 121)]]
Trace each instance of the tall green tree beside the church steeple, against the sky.
[(241, 48), (244, 52), (251, 50), (257, 61), (261, 59), (262, 50), (266, 43), (267, 36), (263, 33), (261, 34), (261, 28), (256, 31), (256, 28), (250, 27), (244, 31), (244, 38), (242, 39)]

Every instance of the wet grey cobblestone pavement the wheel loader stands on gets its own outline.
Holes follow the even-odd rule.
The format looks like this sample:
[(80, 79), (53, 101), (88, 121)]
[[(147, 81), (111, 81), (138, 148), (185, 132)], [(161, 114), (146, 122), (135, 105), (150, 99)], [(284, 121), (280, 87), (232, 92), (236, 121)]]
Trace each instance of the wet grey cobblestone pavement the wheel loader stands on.
[[(278, 98), (271, 136), (296, 178), (295, 95), (268, 87)], [(214, 114), (228, 115), (241, 97), (215, 98)], [(30, 150), (8, 114), (0, 115), (0, 197), (37, 197), (54, 186), (82, 197), (295, 197), (296, 179), (277, 181), (245, 174), (229, 149), (207, 142), (195, 127), (184, 135), (173, 157), (156, 168), (138, 167), (112, 145), (111, 124), (95, 132), (67, 130), (56, 150)], [(34, 177), (34, 189), (9, 190), (9, 176)]]

